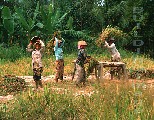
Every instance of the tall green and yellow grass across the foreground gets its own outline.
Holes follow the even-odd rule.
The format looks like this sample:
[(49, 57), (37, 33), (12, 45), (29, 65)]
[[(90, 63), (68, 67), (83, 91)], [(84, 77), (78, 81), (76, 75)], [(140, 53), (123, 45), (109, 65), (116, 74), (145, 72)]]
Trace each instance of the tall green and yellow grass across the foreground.
[[(152, 90), (143, 90), (137, 96), (137, 89), (128, 83), (101, 83), (94, 85), (93, 94), (74, 96), (76, 90), (57, 93), (47, 84), (43, 92), (29, 91), (19, 95), (15, 104), (8, 104), (1, 111), (1, 119), (16, 120), (152, 120)], [(62, 86), (61, 86), (62, 87)], [(139, 104), (139, 101), (141, 102)]]

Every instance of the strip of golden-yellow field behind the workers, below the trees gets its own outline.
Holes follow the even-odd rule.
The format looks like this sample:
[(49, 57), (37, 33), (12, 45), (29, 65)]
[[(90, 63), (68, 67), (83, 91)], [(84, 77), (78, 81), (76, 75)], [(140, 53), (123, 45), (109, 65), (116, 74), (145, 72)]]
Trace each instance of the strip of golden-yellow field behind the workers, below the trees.
[[(154, 60), (147, 58), (145, 56), (139, 56), (139, 55), (134, 55), (133, 53), (120, 50), (121, 56), (122, 56), (122, 61), (126, 63), (127, 69), (130, 70), (138, 70), (138, 69), (150, 69), (154, 70)], [(13, 53), (12, 53), (13, 54)], [(89, 53), (88, 55), (92, 56), (98, 61), (110, 61), (110, 55), (108, 54), (107, 51), (104, 51), (102, 54), (94, 54), (94, 53)], [(22, 56), (22, 57), (21, 57)], [(12, 62), (12, 60), (8, 60), (8, 58), (5, 59), (0, 59), (0, 75), (5, 75), (5, 74), (13, 74), (17, 76), (23, 76), (23, 75), (32, 75), (32, 66), (31, 66), (31, 55), (27, 53), (27, 55), (21, 55), (20, 57), (16, 58)], [(64, 74), (68, 75), (73, 72), (73, 60), (75, 60), (77, 57), (77, 53), (72, 53), (72, 54), (64, 54)], [(11, 58), (13, 59), (13, 58)], [(48, 76), (52, 75), (55, 72), (55, 56), (43, 56), (43, 65), (44, 65), (44, 70), (43, 70), (43, 76)]]

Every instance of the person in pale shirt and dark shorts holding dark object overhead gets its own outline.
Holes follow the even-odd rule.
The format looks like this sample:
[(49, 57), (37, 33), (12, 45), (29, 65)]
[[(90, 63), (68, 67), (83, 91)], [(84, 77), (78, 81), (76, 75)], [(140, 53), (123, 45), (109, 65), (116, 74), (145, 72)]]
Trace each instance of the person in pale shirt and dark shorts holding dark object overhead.
[(36, 89), (38, 89), (39, 86), (41, 88), (43, 87), (41, 81), (41, 74), (43, 72), (42, 54), (44, 48), (45, 48), (44, 43), (37, 36), (33, 37), (29, 45), (27, 46), (27, 51), (32, 52), (33, 79), (36, 84)]

